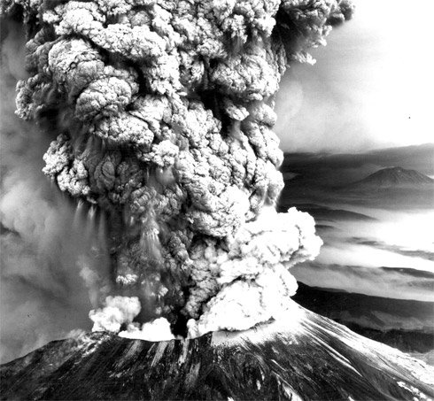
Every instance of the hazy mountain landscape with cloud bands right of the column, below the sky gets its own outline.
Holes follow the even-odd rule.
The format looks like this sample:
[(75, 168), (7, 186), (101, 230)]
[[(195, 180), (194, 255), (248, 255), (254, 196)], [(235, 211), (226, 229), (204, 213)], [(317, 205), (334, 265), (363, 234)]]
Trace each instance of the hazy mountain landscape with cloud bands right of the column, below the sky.
[(434, 144), (288, 153), (282, 211), (314, 216), (324, 245), (294, 266), (295, 299), (361, 335), (434, 362)]

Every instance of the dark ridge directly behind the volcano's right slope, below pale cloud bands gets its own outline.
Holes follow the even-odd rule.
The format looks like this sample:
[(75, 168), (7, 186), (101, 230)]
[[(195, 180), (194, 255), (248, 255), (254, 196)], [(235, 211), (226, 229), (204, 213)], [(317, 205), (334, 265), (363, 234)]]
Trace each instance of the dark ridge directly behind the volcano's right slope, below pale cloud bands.
[(434, 350), (432, 302), (319, 289), (302, 282), (298, 282), (293, 299), (310, 311), (400, 351), (424, 353)]

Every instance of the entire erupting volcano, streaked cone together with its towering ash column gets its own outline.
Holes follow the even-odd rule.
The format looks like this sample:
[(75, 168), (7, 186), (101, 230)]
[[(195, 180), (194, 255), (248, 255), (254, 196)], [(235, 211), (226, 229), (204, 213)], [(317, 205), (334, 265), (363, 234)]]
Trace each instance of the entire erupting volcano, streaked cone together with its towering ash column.
[(287, 66), (314, 64), (306, 50), (351, 18), (349, 0), (1, 11), (26, 27), (16, 112), (50, 137), (43, 173), (76, 206), (70, 253), (99, 332), (1, 366), (2, 399), (434, 396), (422, 361), (291, 300), (291, 266), (322, 240), (306, 212), (275, 210), (275, 94)]

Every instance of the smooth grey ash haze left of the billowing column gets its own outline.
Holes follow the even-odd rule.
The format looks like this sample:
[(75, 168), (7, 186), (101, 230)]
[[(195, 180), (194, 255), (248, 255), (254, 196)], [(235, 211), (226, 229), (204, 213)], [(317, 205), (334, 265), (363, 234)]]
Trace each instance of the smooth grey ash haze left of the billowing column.
[[(104, 215), (75, 205), (44, 177), (50, 135), (14, 116), (25, 33), (0, 21), (0, 361), (91, 328), (89, 309), (110, 292)], [(93, 218), (90, 218), (93, 215)], [(99, 234), (98, 234), (99, 233)], [(75, 330), (75, 333), (77, 331)]]

